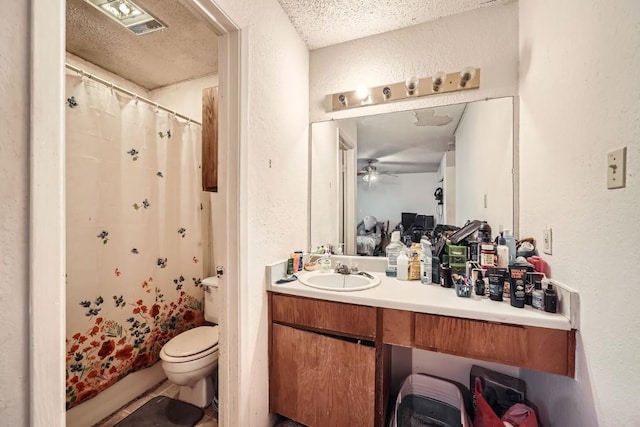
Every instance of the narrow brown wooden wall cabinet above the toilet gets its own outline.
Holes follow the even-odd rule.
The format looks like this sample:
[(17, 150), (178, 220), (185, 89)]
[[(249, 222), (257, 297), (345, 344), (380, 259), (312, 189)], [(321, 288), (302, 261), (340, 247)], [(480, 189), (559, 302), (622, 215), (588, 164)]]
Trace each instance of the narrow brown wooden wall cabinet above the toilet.
[(218, 88), (202, 91), (202, 189), (218, 191)]

